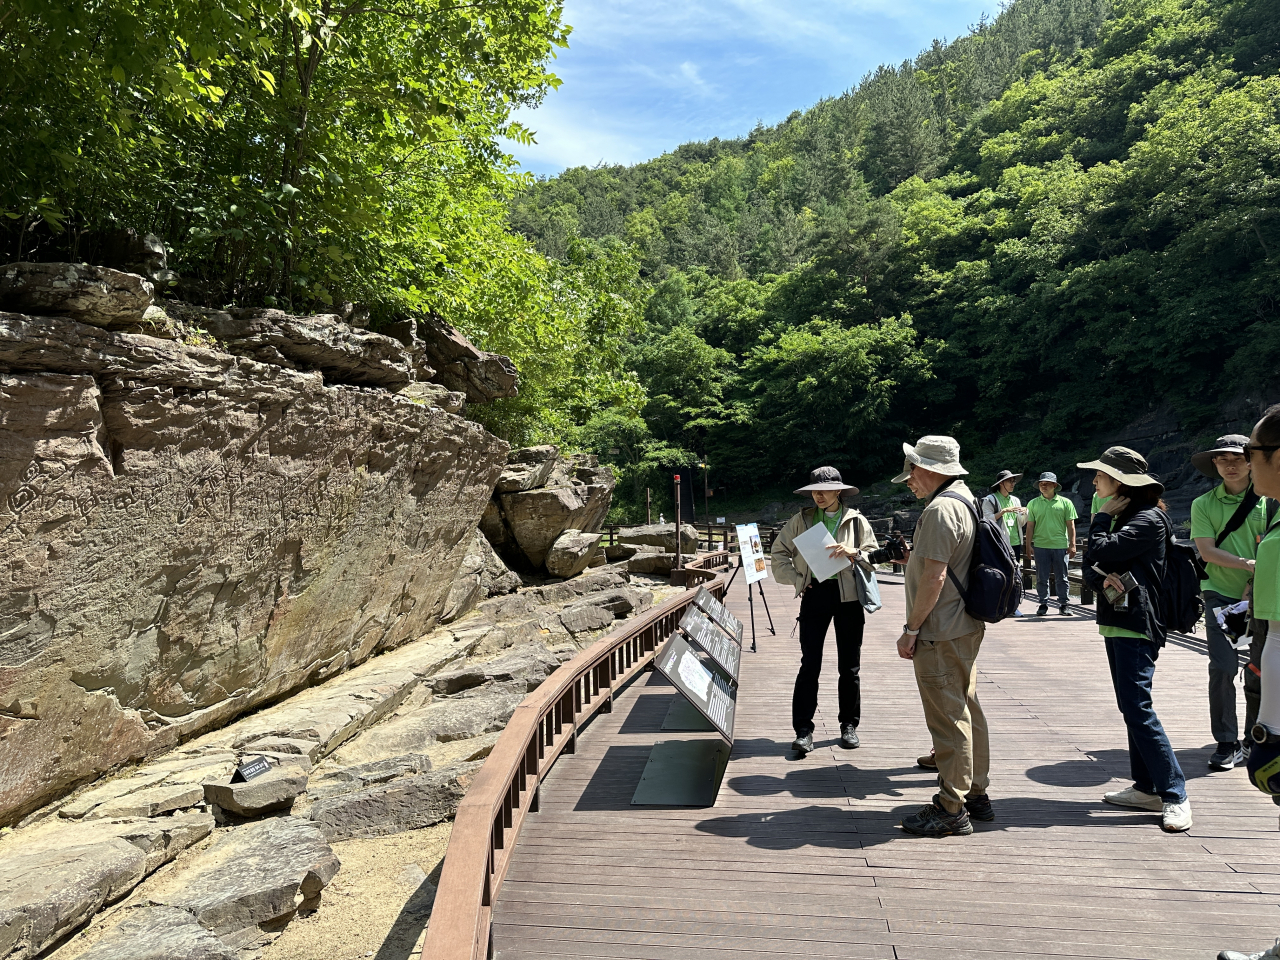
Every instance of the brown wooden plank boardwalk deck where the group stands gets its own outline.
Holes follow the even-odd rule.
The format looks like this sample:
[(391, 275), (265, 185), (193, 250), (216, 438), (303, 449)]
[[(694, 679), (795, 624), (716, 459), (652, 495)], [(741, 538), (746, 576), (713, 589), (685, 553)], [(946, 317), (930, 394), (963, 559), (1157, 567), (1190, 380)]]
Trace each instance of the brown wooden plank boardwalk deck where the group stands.
[[(911, 667), (893, 649), (902, 588), (886, 585), (863, 646), (863, 746), (836, 746), (828, 640), (818, 749), (792, 759), (797, 602), (767, 582), (778, 636), (744, 655), (737, 740), (712, 809), (631, 806), (673, 689), (646, 673), (561, 758), (494, 908), (499, 960), (559, 957), (1128, 957), (1208, 960), (1280, 936), (1277, 808), (1243, 771), (1210, 772), (1206, 659), (1165, 648), (1156, 708), (1196, 826), (1108, 806), (1128, 783), (1125, 731), (1092, 617), (988, 630), (979, 698), (996, 822), (970, 837), (904, 835), (933, 777)], [(744, 621), (741, 577), (728, 604)], [(1024, 609), (1033, 609), (1024, 604)], [(1240, 703), (1243, 717), (1243, 700)]]

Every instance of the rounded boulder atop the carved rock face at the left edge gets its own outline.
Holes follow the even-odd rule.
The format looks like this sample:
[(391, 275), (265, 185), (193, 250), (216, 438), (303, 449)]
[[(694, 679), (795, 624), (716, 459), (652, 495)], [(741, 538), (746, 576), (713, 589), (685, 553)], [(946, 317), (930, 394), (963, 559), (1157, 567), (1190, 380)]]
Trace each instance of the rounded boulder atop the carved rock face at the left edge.
[(132, 326), (155, 294), (137, 274), (88, 264), (0, 266), (0, 310), (69, 316), (95, 326)]

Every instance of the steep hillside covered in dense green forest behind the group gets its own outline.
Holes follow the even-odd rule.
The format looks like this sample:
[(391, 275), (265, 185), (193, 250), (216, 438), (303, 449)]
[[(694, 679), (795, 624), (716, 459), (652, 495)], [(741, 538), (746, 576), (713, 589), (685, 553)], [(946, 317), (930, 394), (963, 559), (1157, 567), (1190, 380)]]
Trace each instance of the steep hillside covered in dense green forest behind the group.
[(1158, 404), (1204, 429), (1280, 360), (1277, 70), (1274, 0), (1016, 0), (777, 127), (538, 182), (517, 230), (652, 289), (646, 399), (581, 440), (643, 502), (704, 458), (741, 492), (882, 480), (925, 430), (1047, 468)]

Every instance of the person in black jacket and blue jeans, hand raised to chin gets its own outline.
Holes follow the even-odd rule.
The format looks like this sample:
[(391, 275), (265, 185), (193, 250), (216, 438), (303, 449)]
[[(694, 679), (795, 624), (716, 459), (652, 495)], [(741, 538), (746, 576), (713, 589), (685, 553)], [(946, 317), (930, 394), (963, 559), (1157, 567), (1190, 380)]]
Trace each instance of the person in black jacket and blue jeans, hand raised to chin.
[(1107, 648), (1116, 704), (1129, 728), (1134, 781), (1103, 800), (1158, 812), (1166, 831), (1189, 829), (1187, 778), (1151, 700), (1156, 658), (1166, 635), (1161, 581), (1172, 525), (1160, 499), (1165, 488), (1147, 472), (1143, 456), (1128, 447), (1111, 447), (1098, 460), (1076, 466), (1096, 470), (1094, 489), (1111, 498), (1089, 524), (1082, 568), (1085, 586), (1098, 595), (1098, 632)]

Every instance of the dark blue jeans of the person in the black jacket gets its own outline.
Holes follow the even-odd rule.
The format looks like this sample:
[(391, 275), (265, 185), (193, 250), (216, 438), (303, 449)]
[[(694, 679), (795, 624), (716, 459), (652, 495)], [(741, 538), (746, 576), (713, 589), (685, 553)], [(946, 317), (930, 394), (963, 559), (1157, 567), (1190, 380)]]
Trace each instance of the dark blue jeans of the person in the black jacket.
[(1165, 803), (1187, 799), (1187, 778), (1174, 748), (1151, 705), (1151, 681), (1160, 648), (1132, 636), (1103, 637), (1116, 705), (1129, 728), (1129, 772), (1143, 794), (1158, 794)]

